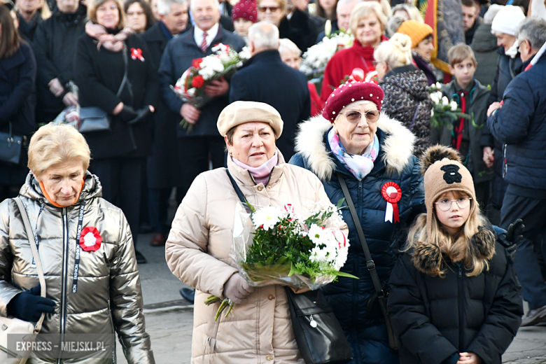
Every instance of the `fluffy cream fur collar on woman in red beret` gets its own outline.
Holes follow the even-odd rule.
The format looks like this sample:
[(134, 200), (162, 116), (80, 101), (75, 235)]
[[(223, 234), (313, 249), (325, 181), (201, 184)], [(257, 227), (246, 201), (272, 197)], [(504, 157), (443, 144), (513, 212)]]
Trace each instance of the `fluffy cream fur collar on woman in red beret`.
[[(324, 133), (331, 126), (332, 123), (322, 116), (315, 116), (300, 123), (295, 137), (295, 151), (302, 154), (311, 171), (322, 181), (328, 181), (336, 169), (335, 161), (324, 144)], [(381, 150), (384, 152), (386, 172), (401, 173), (412, 158), (416, 137), (402, 123), (385, 113), (381, 113), (377, 127), (385, 133)]]

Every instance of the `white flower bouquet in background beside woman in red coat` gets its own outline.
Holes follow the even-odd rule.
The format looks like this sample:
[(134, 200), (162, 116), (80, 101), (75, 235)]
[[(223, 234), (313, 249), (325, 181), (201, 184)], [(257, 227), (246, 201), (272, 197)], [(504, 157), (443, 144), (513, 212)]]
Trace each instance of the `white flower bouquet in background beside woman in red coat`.
[(332, 59), (338, 50), (349, 48), (353, 45), (354, 36), (342, 31), (325, 36), (320, 43), (313, 45), (303, 54), (300, 71), (305, 73), (308, 79), (321, 78), (328, 61)]

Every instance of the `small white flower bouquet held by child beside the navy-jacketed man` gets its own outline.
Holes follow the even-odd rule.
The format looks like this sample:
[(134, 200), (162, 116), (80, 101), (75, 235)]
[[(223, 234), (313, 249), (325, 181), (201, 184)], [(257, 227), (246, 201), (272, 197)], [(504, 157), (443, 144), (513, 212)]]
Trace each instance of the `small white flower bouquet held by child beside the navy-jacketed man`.
[(444, 127), (451, 130), (453, 123), (459, 118), (470, 119), (468, 114), (461, 111), (455, 101), (449, 102), (449, 99), (442, 94), (442, 84), (437, 82), (428, 88), (430, 99), (433, 102), (432, 117), (430, 118), (430, 127), (442, 130)]

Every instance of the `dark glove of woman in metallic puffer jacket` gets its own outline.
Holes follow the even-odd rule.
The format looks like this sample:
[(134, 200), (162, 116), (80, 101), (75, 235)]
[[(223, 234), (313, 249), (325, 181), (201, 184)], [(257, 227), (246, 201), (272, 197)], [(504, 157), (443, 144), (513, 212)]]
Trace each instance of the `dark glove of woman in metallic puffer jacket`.
[(8, 303), (8, 315), (23, 321), (37, 322), (42, 312), (46, 314), (55, 312), (55, 301), (41, 297), (40, 291), (41, 287), (38, 284), (30, 290), (15, 295)]

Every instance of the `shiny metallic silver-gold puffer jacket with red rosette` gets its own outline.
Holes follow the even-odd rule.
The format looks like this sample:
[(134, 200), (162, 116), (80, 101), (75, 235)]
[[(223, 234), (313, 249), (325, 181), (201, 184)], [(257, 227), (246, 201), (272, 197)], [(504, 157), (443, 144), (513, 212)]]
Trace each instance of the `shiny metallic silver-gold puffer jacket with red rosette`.
[[(46, 296), (57, 302), (55, 313), (45, 317), (41, 332), (113, 334), (116, 330), (130, 364), (153, 364), (131, 231), (123, 212), (101, 196), (99, 179), (89, 172), (78, 202), (64, 209), (48, 202), (32, 174), (20, 190), (31, 227), (37, 226)], [(76, 230), (83, 201), (83, 228), (97, 228), (102, 244), (94, 252), (80, 251), (78, 286), (72, 293)], [(38, 272), (31, 262), (17, 204), (5, 200), (0, 204), (0, 316), (6, 316), (6, 306), (15, 295), (38, 285)], [(33, 359), (27, 363), (87, 364), (97, 363), (97, 359)], [(113, 359), (101, 363), (113, 363)]]

